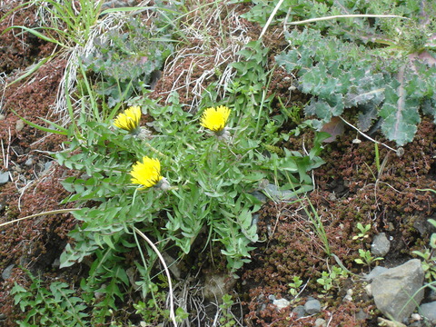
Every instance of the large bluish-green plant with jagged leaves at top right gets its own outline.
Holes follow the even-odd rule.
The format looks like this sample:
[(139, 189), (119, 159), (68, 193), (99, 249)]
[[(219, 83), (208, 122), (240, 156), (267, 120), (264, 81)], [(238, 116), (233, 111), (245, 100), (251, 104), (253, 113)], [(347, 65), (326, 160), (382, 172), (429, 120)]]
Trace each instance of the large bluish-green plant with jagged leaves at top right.
[[(290, 48), (276, 60), (297, 75), (303, 93), (312, 94), (306, 114), (327, 123), (357, 108), (362, 131), (381, 120), (382, 133), (398, 145), (411, 142), (422, 114), (436, 117), (434, 4), (291, 3), (284, 23), (291, 29), (285, 34)], [(273, 8), (255, 4), (247, 18), (260, 19), (256, 14), (260, 5)], [(305, 19), (312, 19), (308, 26), (292, 28)]]

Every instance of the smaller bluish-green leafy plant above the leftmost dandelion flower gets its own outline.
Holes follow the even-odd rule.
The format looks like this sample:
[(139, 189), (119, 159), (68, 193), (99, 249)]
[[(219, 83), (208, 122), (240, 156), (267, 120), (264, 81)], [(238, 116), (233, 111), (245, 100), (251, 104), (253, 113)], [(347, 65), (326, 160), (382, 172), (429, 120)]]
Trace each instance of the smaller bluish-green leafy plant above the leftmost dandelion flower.
[(114, 29), (95, 39), (94, 51), (84, 56), (84, 68), (95, 74), (98, 94), (109, 107), (156, 83), (166, 57), (173, 52), (168, 28), (156, 19), (145, 25), (131, 18), (122, 30)]

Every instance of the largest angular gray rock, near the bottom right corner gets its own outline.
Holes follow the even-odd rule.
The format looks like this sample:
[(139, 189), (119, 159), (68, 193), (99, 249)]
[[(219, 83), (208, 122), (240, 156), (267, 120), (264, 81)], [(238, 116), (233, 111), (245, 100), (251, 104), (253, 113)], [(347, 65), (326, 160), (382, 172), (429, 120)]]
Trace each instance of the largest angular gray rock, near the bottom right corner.
[(371, 283), (375, 305), (387, 318), (403, 322), (421, 303), (423, 282), (424, 272), (418, 259), (381, 272)]

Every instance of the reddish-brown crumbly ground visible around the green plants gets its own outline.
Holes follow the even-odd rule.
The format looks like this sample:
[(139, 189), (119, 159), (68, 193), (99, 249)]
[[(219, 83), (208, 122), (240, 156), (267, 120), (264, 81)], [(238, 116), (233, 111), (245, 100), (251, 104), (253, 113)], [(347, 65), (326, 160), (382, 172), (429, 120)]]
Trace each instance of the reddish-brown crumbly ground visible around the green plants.
[[(0, 16), (19, 2), (6, 1), (0, 8)], [(56, 121), (53, 105), (57, 87), (64, 74), (65, 62), (54, 57), (35, 74), (5, 87), (22, 74), (31, 64), (35, 64), (54, 51), (54, 45), (47, 44), (30, 34), (9, 31), (10, 25), (35, 25), (32, 7), (19, 10), (11, 19), (0, 23), (0, 71), (5, 78), (4, 93), (0, 103), (0, 140), (3, 160), (1, 172), (10, 174), (10, 181), (0, 186), (0, 223), (23, 218), (35, 213), (73, 207), (60, 204), (67, 196), (62, 186), (69, 171), (53, 161), (51, 154), (60, 151), (64, 137), (45, 134), (28, 124), (22, 124), (19, 116), (35, 124), (44, 124), (40, 117)], [(244, 10), (242, 5), (239, 9)], [(229, 24), (232, 24), (230, 22)], [(247, 30), (259, 35), (261, 28), (249, 22)], [(265, 35), (265, 46), (280, 51), (282, 31), (272, 28)], [(250, 37), (250, 35), (248, 35)], [(279, 42), (279, 43), (278, 43)], [(231, 57), (231, 54), (228, 54)], [(163, 67), (163, 77), (154, 89), (155, 98), (165, 98), (167, 94), (183, 84), (184, 77), (202, 76), (213, 67), (212, 62), (193, 64), (193, 56), (186, 56), (184, 62)], [(205, 60), (204, 57), (201, 60)], [(273, 64), (273, 56), (271, 56)], [(190, 69), (193, 71), (190, 71)], [(212, 78), (212, 77), (211, 77)], [(183, 80), (183, 81), (182, 81)], [(1, 81), (1, 79), (0, 79)], [(212, 82), (206, 78), (206, 83)], [(292, 75), (276, 69), (272, 75), (270, 94), (288, 99), (287, 105), (307, 101), (306, 94), (292, 94)], [(186, 92), (183, 93), (183, 90)], [(181, 89), (181, 102), (194, 104), (189, 89)], [(278, 104), (277, 104), (278, 105)], [(16, 113), (16, 114), (15, 114)], [(353, 115), (345, 117), (353, 123)], [(285, 129), (295, 126), (289, 124)], [(283, 147), (302, 150), (310, 148), (311, 133), (290, 139)], [(429, 218), (435, 218), (436, 196), (428, 189), (436, 189), (436, 126), (431, 119), (423, 117), (418, 126), (418, 134), (411, 144), (404, 146), (401, 156), (379, 145), (379, 169), (372, 141), (360, 136), (351, 127), (345, 127), (342, 134), (329, 144), (325, 144), (322, 159), (325, 161), (313, 172), (315, 190), (309, 199), (316, 208), (325, 227), (331, 251), (342, 258), (342, 264), (351, 272), (368, 272), (368, 267), (355, 263), (359, 249), (371, 249), (372, 238), (378, 233), (386, 233), (391, 240), (391, 250), (382, 264), (392, 267), (416, 257), (412, 252), (423, 251), (428, 246), (431, 233)], [(377, 131), (372, 138), (394, 147), (395, 144), (383, 139)], [(356, 142), (356, 139), (359, 142)], [(259, 212), (258, 233), (262, 242), (255, 244), (251, 253), (252, 262), (246, 264), (238, 274), (240, 279), (232, 283), (231, 292), (241, 300), (243, 313), (237, 314), (245, 326), (312, 326), (316, 319), (323, 318), (330, 326), (373, 326), (381, 313), (366, 292), (363, 282), (348, 277), (338, 282), (334, 292), (325, 294), (320, 284), (314, 282), (336, 264), (325, 254), (324, 244), (315, 233), (303, 205), (308, 203), (276, 203), (263, 205)], [(0, 229), (0, 272), (13, 266), (12, 273), (0, 279), (1, 326), (15, 326), (16, 320), (23, 317), (19, 306), (15, 305), (10, 291), (15, 282), (30, 284), (25, 269), (44, 276), (47, 284), (54, 280), (64, 280), (73, 287), (79, 287), (81, 274), (86, 268), (77, 265), (69, 271), (59, 269), (56, 263), (68, 242), (68, 232), (74, 228), (74, 218), (68, 214), (47, 214), (18, 223), (11, 223)], [(367, 238), (353, 240), (359, 233), (357, 223), (371, 224)], [(219, 258), (219, 253), (215, 253)], [(207, 262), (209, 253), (201, 254)], [(215, 258), (216, 258), (215, 257)], [(216, 260), (216, 259), (215, 259)], [(204, 266), (200, 280), (210, 273), (220, 272), (219, 264)], [(272, 305), (271, 296), (292, 300), (289, 283), (293, 276), (301, 276), (309, 281), (299, 299), (288, 308), (277, 310)], [(4, 276), (5, 277), (5, 276)], [(353, 290), (353, 301), (342, 301), (349, 289)], [(308, 296), (317, 297), (322, 302), (322, 312), (306, 319), (291, 318), (292, 308), (303, 303)], [(125, 308), (124, 308), (125, 309)], [(133, 312), (130, 308), (130, 312)], [(133, 319), (134, 314), (120, 313), (120, 317)], [(121, 319), (121, 318), (120, 318)], [(207, 320), (206, 317), (203, 318)], [(205, 322), (202, 322), (205, 324)]]

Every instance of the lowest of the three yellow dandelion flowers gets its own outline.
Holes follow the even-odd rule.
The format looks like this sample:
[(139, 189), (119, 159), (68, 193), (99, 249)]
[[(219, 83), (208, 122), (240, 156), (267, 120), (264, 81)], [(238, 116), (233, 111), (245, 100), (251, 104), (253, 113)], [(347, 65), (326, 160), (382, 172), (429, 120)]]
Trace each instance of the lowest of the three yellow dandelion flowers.
[(143, 185), (144, 188), (152, 187), (163, 179), (159, 160), (147, 156), (143, 157), (142, 163), (134, 163), (130, 174), (132, 175), (132, 183)]

